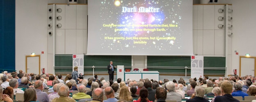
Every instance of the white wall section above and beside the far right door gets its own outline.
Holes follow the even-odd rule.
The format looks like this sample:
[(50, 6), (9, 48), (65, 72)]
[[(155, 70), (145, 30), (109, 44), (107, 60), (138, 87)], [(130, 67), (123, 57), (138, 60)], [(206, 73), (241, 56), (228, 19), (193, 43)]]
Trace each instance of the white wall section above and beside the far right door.
[[(256, 0), (232, 0), (233, 35), (232, 35), (232, 70), (238, 69), (239, 56), (256, 56)], [(236, 55), (235, 51), (239, 55)]]

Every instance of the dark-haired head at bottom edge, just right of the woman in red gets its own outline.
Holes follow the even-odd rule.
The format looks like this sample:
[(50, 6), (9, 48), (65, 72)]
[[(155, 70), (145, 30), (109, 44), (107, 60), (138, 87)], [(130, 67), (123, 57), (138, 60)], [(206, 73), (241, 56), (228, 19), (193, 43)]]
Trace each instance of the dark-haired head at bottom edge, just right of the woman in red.
[(156, 88), (156, 102), (165, 102), (167, 96), (167, 91), (163, 87)]

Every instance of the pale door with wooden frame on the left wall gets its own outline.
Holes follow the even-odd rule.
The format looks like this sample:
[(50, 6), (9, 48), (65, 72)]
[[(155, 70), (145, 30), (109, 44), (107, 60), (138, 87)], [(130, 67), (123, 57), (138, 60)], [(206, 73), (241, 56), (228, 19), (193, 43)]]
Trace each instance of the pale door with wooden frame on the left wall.
[(26, 55), (26, 73), (40, 74), (40, 55)]

